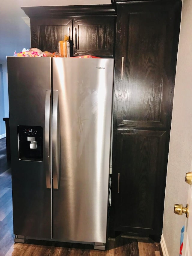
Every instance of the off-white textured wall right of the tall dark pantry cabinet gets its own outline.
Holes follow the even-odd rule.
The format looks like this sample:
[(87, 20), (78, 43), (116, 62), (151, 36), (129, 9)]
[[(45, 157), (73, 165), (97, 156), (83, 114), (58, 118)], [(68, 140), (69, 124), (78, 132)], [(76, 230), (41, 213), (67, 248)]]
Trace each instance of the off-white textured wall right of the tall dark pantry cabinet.
[[(170, 149), (167, 167), (163, 235), (164, 256), (179, 256), (181, 228), (185, 215), (174, 214), (174, 204), (186, 206), (188, 185), (185, 173), (192, 158), (192, 1), (182, 2), (182, 20), (177, 56), (176, 82)], [(191, 227), (192, 228), (192, 227)]]

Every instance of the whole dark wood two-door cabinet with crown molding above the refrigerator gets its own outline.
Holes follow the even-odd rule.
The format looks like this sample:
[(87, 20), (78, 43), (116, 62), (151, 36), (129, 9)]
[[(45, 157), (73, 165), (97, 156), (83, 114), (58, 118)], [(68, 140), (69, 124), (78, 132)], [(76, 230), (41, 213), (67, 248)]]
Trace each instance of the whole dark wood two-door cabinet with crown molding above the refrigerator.
[(22, 7), (31, 20), (31, 46), (58, 51), (70, 37), (70, 56), (115, 56), (116, 14), (112, 5)]

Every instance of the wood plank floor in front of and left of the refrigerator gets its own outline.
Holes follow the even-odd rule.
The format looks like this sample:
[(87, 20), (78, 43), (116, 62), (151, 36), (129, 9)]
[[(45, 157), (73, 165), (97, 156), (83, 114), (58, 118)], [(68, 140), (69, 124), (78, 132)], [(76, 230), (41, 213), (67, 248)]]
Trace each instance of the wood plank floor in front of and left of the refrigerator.
[(27, 240), (14, 243), (11, 164), (6, 159), (6, 142), (0, 140), (0, 255), (1, 256), (161, 256), (158, 244), (126, 236), (107, 240), (106, 251), (93, 245)]

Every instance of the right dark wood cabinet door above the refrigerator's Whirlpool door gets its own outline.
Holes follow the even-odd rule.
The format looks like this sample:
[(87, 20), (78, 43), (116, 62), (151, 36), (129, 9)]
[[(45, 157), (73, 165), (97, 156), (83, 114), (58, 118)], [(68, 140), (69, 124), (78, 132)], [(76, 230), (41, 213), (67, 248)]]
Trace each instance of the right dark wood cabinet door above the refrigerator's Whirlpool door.
[(115, 17), (73, 19), (73, 56), (114, 56)]

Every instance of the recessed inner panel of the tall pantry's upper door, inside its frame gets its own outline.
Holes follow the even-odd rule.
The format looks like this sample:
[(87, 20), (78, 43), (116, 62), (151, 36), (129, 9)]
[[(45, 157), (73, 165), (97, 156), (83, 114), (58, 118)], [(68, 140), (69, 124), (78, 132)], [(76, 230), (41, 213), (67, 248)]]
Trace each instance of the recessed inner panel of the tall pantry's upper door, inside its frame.
[(117, 120), (160, 121), (165, 17), (149, 13), (130, 14), (128, 18), (128, 27), (121, 30), (125, 47), (120, 47), (119, 54), (124, 65), (123, 76), (119, 74)]

